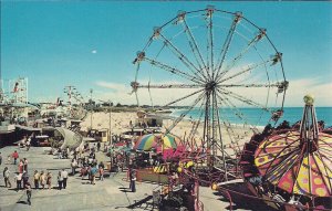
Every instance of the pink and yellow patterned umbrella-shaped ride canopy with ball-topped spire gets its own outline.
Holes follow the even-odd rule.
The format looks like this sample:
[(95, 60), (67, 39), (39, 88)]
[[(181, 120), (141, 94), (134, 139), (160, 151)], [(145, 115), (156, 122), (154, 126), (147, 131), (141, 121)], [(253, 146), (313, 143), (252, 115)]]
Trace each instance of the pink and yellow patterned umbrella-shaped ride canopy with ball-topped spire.
[(307, 97), (300, 131), (267, 137), (255, 152), (264, 180), (289, 193), (332, 196), (332, 136), (318, 129), (313, 99)]

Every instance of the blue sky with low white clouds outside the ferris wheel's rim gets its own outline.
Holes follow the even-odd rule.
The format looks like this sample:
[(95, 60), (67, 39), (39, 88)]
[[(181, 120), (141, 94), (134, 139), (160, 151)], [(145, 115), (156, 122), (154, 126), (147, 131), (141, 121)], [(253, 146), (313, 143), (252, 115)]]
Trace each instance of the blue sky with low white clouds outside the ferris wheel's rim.
[(85, 96), (133, 103), (132, 64), (153, 27), (214, 4), (268, 30), (283, 53), (290, 88), (287, 106), (313, 93), (332, 105), (332, 4), (330, 2), (2, 1), (2, 78), (27, 76), (30, 101), (55, 101), (66, 85)]

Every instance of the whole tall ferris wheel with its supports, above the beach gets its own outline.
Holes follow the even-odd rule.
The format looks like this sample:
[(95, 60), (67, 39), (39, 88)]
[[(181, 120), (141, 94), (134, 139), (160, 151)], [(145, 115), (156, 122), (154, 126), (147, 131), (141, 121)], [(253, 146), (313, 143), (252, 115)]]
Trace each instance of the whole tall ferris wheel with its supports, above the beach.
[(240, 150), (239, 128), (257, 131), (282, 115), (288, 88), (282, 53), (241, 12), (211, 6), (179, 11), (154, 28), (133, 63), (137, 103), (183, 108), (166, 134), (194, 116), (187, 138), (199, 134), (209, 165), (225, 171), (227, 146)]

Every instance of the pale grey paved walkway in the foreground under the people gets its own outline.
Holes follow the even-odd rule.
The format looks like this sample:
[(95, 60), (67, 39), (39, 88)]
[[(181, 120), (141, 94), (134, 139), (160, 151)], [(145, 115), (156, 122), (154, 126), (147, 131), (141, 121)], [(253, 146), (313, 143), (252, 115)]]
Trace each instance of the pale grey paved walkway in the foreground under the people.
[[(135, 203), (136, 200), (142, 200), (152, 191), (158, 188), (157, 184), (137, 182), (137, 191), (135, 193), (127, 192), (128, 182), (124, 180), (126, 173), (111, 175), (104, 181), (96, 180), (96, 184), (90, 184), (87, 180), (81, 180), (79, 176), (70, 177), (68, 188), (65, 190), (32, 190), (32, 204), (27, 204), (27, 194), (24, 190), (15, 191), (14, 189), (4, 188), (2, 171), (4, 166), (8, 166), (11, 171), (11, 183), (13, 188), (13, 172), (17, 171), (17, 166), (7, 162), (7, 156), (18, 150), (18, 147), (6, 147), (0, 149), (3, 161), (0, 166), (0, 211), (20, 211), (20, 210), (132, 210), (127, 207)], [(58, 159), (55, 156), (48, 155), (50, 148), (33, 148), (29, 151), (25, 149), (18, 150), (20, 158), (29, 160), (30, 182), (33, 186), (33, 171), (50, 170), (53, 175), (52, 186), (56, 187), (58, 171), (65, 168), (70, 172), (70, 159)], [(102, 152), (96, 155), (98, 161), (108, 161)], [(222, 199), (222, 200), (220, 200)], [(229, 203), (220, 194), (214, 194), (209, 188), (200, 188), (200, 200), (205, 204), (205, 210), (227, 210)], [(134, 210), (143, 210), (134, 209)], [(151, 210), (151, 208), (147, 208)], [(237, 210), (245, 210), (239, 208)]]

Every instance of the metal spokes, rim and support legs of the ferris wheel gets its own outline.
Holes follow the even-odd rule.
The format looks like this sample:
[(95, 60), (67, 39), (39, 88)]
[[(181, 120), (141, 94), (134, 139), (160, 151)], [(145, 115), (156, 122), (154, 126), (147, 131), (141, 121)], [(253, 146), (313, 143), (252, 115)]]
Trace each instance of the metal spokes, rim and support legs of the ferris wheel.
[[(216, 35), (214, 33), (214, 25), (215, 25), (215, 14), (221, 13), (225, 15), (229, 15), (231, 18), (229, 30), (227, 32), (226, 39), (222, 43), (220, 51), (217, 54), (215, 40)], [(197, 14), (198, 17), (204, 17), (204, 21), (207, 29), (207, 41), (206, 41), (206, 50), (204, 57), (204, 51), (199, 45), (198, 39), (195, 38), (195, 33), (187, 21), (187, 17), (191, 14)], [(250, 25), (251, 28), (257, 30), (257, 33), (253, 34), (250, 39), (247, 39), (247, 44), (243, 49), (240, 49), (236, 56), (232, 56), (228, 60), (228, 52), (231, 49), (232, 40), (235, 34), (237, 33), (237, 27), (240, 22), (245, 22), (246, 24)], [(163, 32), (165, 28), (170, 27), (183, 27), (183, 34), (186, 35), (190, 52), (193, 53), (190, 56), (191, 61), (186, 53), (181, 51), (179, 46), (177, 46), (173, 39), (167, 38)], [(159, 40), (163, 42), (163, 46), (155, 57), (149, 56), (146, 52), (151, 44)], [(269, 56), (264, 60), (259, 53), (258, 55), (261, 57), (259, 63), (248, 64), (245, 68), (232, 73), (234, 67), (241, 61), (241, 59), (252, 49), (257, 50), (258, 43), (262, 40), (267, 42), (267, 44), (272, 50), (272, 56)], [(179, 62), (186, 70), (180, 70), (174, 65), (167, 64), (166, 62), (162, 62), (157, 60), (158, 54), (167, 49), (172, 52), (173, 55), (177, 57), (177, 62)], [(217, 59), (216, 59), (217, 56)], [(159, 71), (167, 72), (169, 74), (177, 75), (178, 77), (188, 81), (189, 83), (178, 83), (178, 84), (152, 84), (148, 82), (147, 84), (138, 83), (138, 75), (141, 73), (141, 65), (143, 63), (149, 64), (152, 67), (157, 68)], [(245, 18), (241, 12), (229, 12), (224, 10), (218, 10), (215, 7), (208, 6), (206, 9), (196, 10), (190, 12), (180, 11), (178, 14), (167, 21), (165, 24), (158, 28), (154, 28), (152, 36), (148, 39), (147, 43), (143, 48), (142, 51), (137, 53), (133, 64), (136, 65), (136, 74), (135, 81), (131, 83), (133, 88), (133, 93), (136, 95), (137, 104), (139, 106), (139, 101), (137, 96), (137, 91), (142, 88), (147, 88), (148, 91), (153, 88), (193, 88), (194, 92), (178, 97), (169, 103), (165, 104), (163, 107), (167, 108), (172, 105), (175, 105), (179, 102), (188, 99), (190, 97), (196, 96), (195, 101), (187, 106), (185, 109), (175, 120), (174, 123), (165, 129), (165, 134), (172, 131), (174, 127), (178, 125), (195, 107), (199, 107), (199, 119), (196, 124), (193, 125), (191, 131), (189, 133), (188, 137), (193, 137), (195, 131), (199, 126), (203, 125), (204, 133), (203, 133), (203, 141), (201, 147), (210, 154), (211, 159), (209, 159), (208, 166), (217, 167), (219, 165), (219, 169), (225, 172), (225, 178), (227, 180), (228, 177), (228, 161), (227, 161), (227, 152), (225, 151), (225, 143), (221, 127), (224, 126), (227, 133), (232, 134), (235, 136), (235, 131), (232, 130), (231, 124), (229, 122), (225, 122), (222, 116), (220, 115), (220, 107), (228, 107), (230, 108), (232, 115), (237, 116), (238, 118), (242, 119), (247, 123), (246, 115), (241, 112), (241, 108), (235, 103), (239, 102), (242, 105), (251, 106), (253, 108), (259, 108), (262, 112), (269, 113), (271, 118), (268, 122), (277, 122), (283, 112), (283, 103), (286, 91), (288, 88), (288, 81), (286, 81), (283, 65), (282, 65), (282, 53), (280, 53), (274, 44), (271, 42), (267, 34), (267, 30), (257, 27), (250, 20)], [(269, 76), (269, 67), (278, 65), (279, 75), (281, 78), (279, 81), (270, 81)], [(256, 68), (261, 67), (266, 70), (267, 81), (266, 83), (228, 83), (231, 82), (234, 78), (243, 76), (246, 74), (251, 74), (252, 71)], [(277, 68), (277, 67), (276, 67)], [(243, 96), (234, 92), (232, 88), (267, 88), (268, 89), (268, 97), (270, 97), (270, 92), (276, 91), (276, 97), (278, 95), (282, 95), (281, 99), (279, 98), (278, 106), (271, 108), (268, 106), (268, 99), (266, 104), (257, 102), (250, 97)], [(277, 99), (276, 99), (277, 104)], [(203, 118), (204, 117), (204, 118)], [(256, 126), (252, 126), (251, 129), (255, 129)], [(231, 140), (232, 143), (232, 140)], [(234, 141), (236, 144), (236, 140)], [(218, 154), (218, 152), (221, 152)]]

